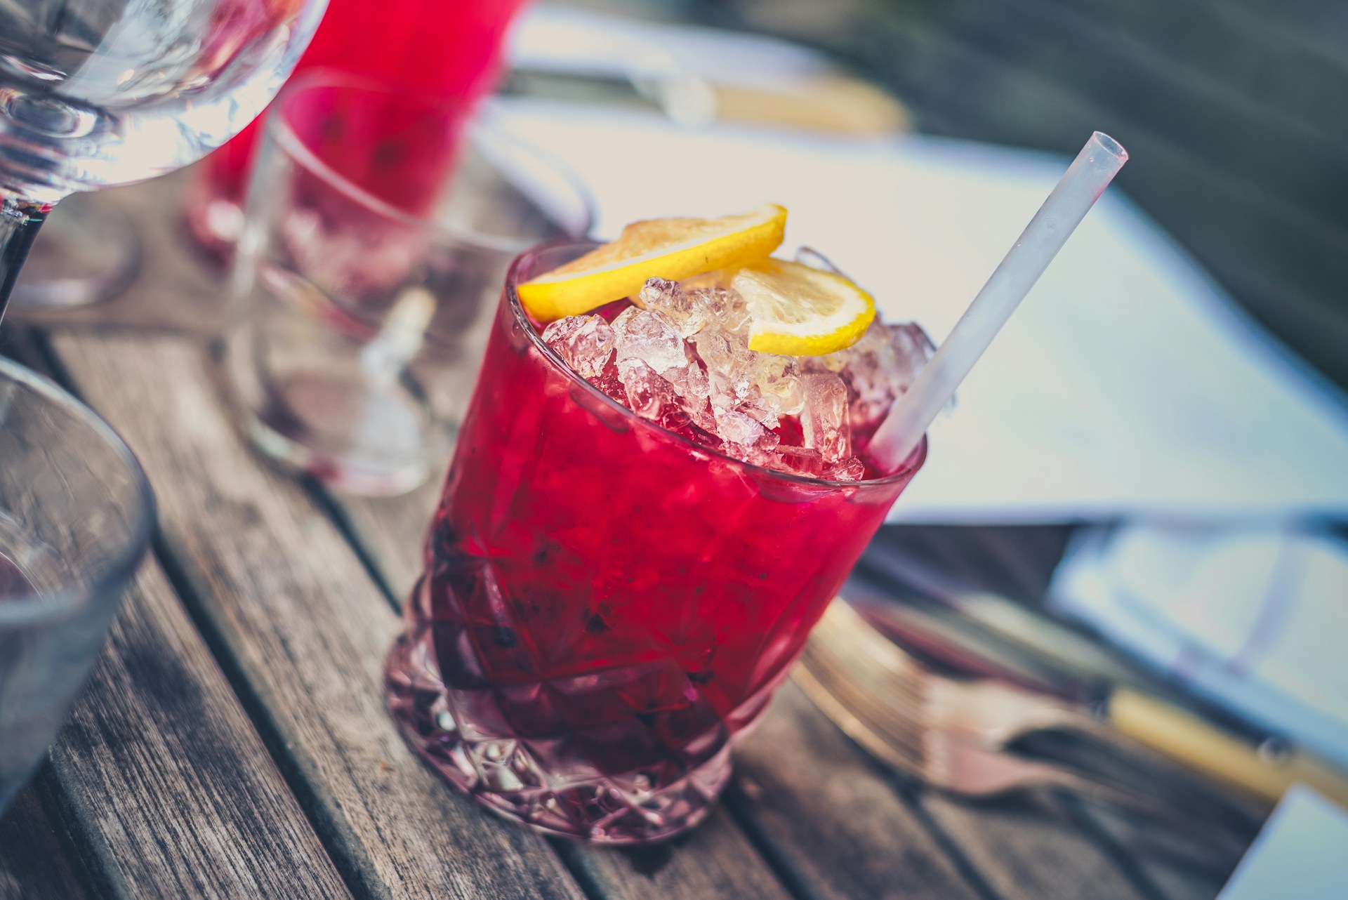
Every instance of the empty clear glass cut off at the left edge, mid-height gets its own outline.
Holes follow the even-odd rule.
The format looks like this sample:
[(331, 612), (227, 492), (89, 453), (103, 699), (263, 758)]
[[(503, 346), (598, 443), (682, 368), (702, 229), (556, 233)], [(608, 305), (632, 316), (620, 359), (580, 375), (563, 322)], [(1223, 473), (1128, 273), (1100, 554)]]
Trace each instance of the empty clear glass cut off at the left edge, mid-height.
[(0, 814), (55, 740), (154, 521), (112, 428), (0, 360)]

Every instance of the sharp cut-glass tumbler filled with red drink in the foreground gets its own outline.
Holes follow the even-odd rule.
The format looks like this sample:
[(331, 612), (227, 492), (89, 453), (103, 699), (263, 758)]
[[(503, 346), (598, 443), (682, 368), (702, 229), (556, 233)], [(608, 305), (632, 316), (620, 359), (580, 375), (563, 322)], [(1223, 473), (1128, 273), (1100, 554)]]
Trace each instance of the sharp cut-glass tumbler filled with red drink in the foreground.
[(872, 481), (762, 469), (615, 403), (542, 341), (520, 256), (388, 656), (407, 741), (491, 808), (612, 843), (697, 823), (926, 454)]

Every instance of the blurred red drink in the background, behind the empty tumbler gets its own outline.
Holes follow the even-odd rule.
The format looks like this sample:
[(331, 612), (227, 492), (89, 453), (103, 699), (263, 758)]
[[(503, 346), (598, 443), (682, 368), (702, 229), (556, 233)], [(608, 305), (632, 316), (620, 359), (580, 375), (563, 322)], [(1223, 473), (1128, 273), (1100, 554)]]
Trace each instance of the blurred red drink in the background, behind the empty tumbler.
[[(368, 75), (411, 94), (456, 101), (466, 115), (492, 88), (501, 39), (524, 3), (332, 0), (294, 75), (313, 69)], [(228, 249), (241, 229), (244, 189), (260, 123), (255, 121), (205, 160), (190, 195), (191, 230), (210, 249)], [(380, 125), (398, 124), (402, 123), (371, 123), (368, 132), (342, 139), (379, 140)], [(426, 156), (402, 162), (442, 170), (453, 164), (453, 154), (443, 146), (430, 148)]]

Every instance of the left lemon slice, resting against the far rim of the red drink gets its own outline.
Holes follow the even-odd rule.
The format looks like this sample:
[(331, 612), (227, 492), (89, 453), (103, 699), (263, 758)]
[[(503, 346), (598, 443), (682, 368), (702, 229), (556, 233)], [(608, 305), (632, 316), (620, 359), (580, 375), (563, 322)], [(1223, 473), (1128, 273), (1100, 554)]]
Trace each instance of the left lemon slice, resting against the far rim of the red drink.
[(577, 260), (519, 286), (519, 302), (542, 322), (580, 315), (642, 290), (766, 259), (782, 243), (786, 209), (776, 203), (721, 218), (652, 218)]

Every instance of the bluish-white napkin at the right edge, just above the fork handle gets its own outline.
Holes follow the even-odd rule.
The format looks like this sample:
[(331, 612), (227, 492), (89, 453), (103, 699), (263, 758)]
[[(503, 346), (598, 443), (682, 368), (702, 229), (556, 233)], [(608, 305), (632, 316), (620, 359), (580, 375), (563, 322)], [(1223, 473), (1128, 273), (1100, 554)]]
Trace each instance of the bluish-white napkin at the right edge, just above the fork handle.
[(1049, 587), (1178, 684), (1348, 767), (1348, 542), (1313, 531), (1086, 529)]

